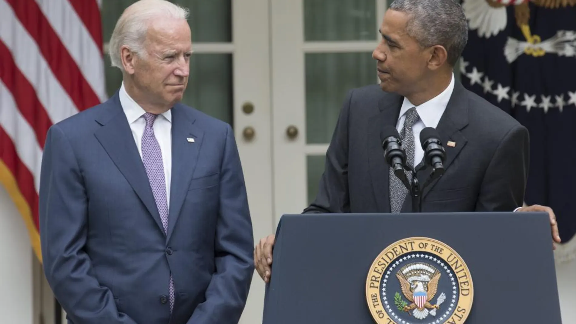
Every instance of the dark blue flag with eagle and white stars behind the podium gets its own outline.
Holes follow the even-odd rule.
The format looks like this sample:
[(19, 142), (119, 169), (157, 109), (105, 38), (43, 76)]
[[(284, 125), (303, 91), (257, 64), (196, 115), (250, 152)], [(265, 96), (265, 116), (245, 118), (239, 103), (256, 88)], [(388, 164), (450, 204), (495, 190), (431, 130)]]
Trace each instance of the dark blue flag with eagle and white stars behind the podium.
[(560, 238), (576, 232), (576, 0), (463, 0), (465, 87), (530, 132), (525, 203), (548, 205)]

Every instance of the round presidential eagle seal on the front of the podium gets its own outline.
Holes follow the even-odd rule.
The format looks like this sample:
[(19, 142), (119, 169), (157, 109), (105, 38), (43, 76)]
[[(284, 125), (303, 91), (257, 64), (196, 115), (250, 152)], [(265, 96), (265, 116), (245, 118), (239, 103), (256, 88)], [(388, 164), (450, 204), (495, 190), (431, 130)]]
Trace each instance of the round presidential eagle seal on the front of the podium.
[(431, 238), (402, 239), (374, 260), (366, 302), (378, 324), (464, 323), (473, 299), (464, 260)]

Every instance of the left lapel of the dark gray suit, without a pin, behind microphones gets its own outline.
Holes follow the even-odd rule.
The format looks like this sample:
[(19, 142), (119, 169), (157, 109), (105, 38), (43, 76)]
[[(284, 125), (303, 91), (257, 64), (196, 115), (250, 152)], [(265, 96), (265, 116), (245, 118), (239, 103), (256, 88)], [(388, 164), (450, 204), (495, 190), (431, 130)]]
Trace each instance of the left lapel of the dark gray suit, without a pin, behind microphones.
[(378, 210), (390, 212), (389, 196), (389, 168), (384, 158), (384, 149), (380, 140), (380, 131), (385, 125), (396, 127), (396, 121), (400, 114), (400, 105), (403, 98), (400, 96), (385, 96), (378, 102), (376, 116), (372, 116), (368, 124), (368, 159), (370, 163), (370, 173), (372, 174), (372, 185)]

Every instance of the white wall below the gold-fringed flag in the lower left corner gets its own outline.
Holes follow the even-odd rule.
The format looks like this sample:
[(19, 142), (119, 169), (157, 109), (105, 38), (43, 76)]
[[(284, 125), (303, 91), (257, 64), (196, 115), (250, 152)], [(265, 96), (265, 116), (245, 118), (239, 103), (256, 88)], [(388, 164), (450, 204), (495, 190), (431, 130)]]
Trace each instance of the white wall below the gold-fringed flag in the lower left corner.
[(33, 257), (24, 220), (0, 185), (0, 323), (33, 323)]

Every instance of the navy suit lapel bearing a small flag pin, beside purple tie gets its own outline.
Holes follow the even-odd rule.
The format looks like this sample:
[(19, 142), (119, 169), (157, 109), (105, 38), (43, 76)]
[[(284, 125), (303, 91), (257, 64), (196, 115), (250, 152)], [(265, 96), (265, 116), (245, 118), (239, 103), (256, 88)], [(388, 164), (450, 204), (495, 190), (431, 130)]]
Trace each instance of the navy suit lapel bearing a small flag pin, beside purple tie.
[[(172, 108), (172, 181), (170, 185), (170, 211), (168, 237), (172, 235), (180, 209), (188, 193), (188, 185), (198, 162), (204, 131), (194, 125), (195, 119), (182, 105)], [(188, 138), (194, 142), (188, 142)]]

